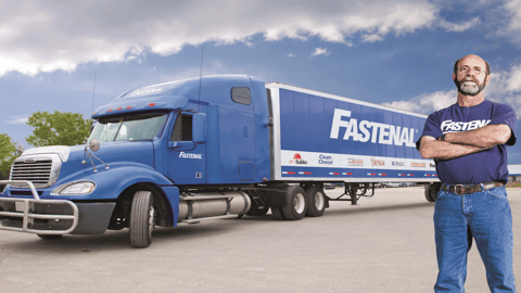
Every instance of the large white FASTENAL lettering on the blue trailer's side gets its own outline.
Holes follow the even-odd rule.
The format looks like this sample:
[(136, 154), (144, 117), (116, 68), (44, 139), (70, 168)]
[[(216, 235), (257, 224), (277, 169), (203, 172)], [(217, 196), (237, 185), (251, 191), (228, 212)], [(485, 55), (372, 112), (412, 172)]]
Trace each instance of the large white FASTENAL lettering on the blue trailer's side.
[(342, 117), (351, 117), (351, 111), (335, 109), (333, 115), (333, 124), (331, 126), (330, 138), (338, 139), (340, 128), (345, 128), (344, 140), (353, 139), (353, 141), (368, 142), (394, 145), (406, 145), (416, 148), (415, 132), (417, 129), (395, 126), (391, 124), (376, 123), (369, 120), (361, 120), (351, 118), (343, 120)]

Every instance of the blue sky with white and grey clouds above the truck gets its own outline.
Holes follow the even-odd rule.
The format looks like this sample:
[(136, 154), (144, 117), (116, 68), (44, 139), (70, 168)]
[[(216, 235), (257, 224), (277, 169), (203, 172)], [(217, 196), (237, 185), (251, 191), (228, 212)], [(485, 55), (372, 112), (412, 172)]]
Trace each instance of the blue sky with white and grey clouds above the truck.
[[(90, 117), (129, 89), (199, 76), (203, 47), (204, 75), (423, 114), (456, 101), (454, 62), (474, 53), (492, 66), (485, 97), (521, 118), (521, 0), (0, 0), (0, 133), (27, 149), (37, 111)], [(521, 164), (521, 142), (509, 158)]]

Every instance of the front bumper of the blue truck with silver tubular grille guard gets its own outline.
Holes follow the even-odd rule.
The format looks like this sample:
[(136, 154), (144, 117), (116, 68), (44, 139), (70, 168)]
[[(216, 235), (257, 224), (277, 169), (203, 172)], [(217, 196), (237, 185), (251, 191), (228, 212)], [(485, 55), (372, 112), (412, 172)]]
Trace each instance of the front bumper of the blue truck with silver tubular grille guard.
[(36, 234), (101, 234), (106, 231), (116, 203), (74, 203), (40, 200), (30, 182), (34, 199), (0, 198), (0, 230)]

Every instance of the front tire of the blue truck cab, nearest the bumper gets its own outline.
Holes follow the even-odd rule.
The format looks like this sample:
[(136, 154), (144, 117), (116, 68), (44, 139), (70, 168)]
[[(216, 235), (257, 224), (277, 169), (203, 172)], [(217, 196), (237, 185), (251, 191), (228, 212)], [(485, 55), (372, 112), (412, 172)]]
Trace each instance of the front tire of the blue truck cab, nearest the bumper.
[(154, 198), (150, 191), (138, 191), (134, 195), (130, 209), (130, 245), (144, 249), (152, 243), (152, 231), (155, 228)]

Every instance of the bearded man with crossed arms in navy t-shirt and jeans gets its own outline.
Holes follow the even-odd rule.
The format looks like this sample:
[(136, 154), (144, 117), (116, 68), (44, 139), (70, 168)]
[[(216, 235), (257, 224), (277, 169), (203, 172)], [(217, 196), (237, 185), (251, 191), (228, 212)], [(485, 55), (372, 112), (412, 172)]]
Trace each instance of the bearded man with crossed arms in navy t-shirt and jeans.
[(491, 292), (516, 292), (512, 217), (505, 183), (506, 145), (516, 143), (516, 113), (485, 100), (487, 62), (467, 55), (454, 65), (454, 105), (429, 116), (418, 149), (434, 158), (442, 181), (434, 209), (440, 272), (435, 292), (465, 292), (467, 253), (474, 239)]

